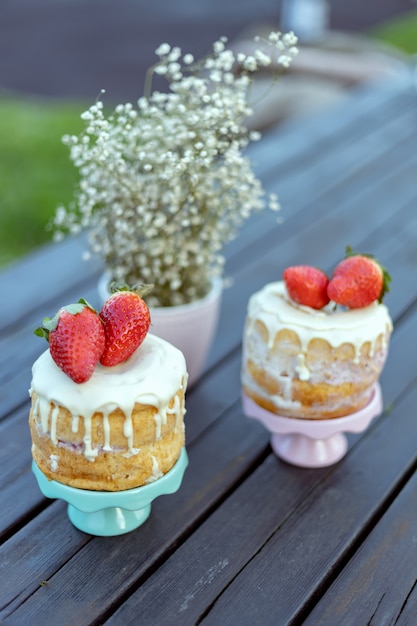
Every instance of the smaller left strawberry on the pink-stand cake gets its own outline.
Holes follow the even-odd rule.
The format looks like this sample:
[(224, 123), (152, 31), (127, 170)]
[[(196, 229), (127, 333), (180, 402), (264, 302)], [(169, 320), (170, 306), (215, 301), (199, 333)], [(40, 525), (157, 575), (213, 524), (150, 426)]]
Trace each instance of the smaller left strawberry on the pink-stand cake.
[(321, 309), (329, 302), (329, 279), (322, 270), (310, 265), (294, 265), (284, 270), (283, 278), (294, 302), (312, 309)]

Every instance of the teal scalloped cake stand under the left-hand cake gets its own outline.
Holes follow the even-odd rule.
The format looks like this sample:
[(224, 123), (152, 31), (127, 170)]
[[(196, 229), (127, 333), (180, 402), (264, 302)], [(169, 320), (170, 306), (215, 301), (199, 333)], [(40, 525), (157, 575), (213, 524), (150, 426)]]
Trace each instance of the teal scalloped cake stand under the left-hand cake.
[(148, 519), (155, 498), (179, 489), (187, 465), (188, 456), (183, 448), (167, 474), (152, 483), (125, 491), (76, 489), (48, 480), (35, 462), (32, 470), (44, 496), (68, 503), (68, 517), (76, 528), (90, 535), (110, 537), (141, 526)]

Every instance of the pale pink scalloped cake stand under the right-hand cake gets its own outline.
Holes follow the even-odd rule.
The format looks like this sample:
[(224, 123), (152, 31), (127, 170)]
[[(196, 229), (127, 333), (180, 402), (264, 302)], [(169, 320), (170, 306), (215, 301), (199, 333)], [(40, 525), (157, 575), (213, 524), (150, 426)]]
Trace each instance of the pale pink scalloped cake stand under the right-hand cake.
[(369, 403), (356, 413), (333, 419), (297, 419), (263, 409), (246, 394), (243, 410), (272, 433), (275, 454), (299, 467), (327, 467), (340, 461), (347, 451), (345, 432), (360, 433), (382, 412), (381, 388), (375, 385)]

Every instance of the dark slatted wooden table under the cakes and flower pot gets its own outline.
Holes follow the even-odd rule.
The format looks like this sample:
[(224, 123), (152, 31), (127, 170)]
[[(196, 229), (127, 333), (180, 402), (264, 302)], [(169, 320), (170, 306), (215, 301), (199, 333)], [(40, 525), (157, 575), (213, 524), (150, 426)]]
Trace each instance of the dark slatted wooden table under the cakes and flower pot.
[[(31, 364), (45, 315), (101, 271), (83, 242), (47, 246), (0, 275), (0, 621), (4, 624), (415, 624), (417, 615), (417, 93), (411, 77), (270, 132), (251, 156), (269, 212), (229, 246), (215, 345), (187, 395), (180, 490), (119, 537), (76, 530), (31, 472)], [(24, 225), (22, 225), (23, 227)], [(384, 413), (336, 465), (274, 456), (244, 416), (241, 336), (249, 295), (287, 265), (331, 271), (346, 244), (391, 271), (395, 323)], [(396, 621), (397, 620), (397, 621)]]

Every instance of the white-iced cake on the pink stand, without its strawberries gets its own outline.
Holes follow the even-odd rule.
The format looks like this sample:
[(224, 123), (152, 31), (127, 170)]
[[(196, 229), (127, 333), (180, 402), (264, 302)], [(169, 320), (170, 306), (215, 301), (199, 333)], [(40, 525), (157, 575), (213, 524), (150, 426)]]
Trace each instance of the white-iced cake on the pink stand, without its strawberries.
[(289, 418), (331, 419), (362, 409), (388, 354), (393, 325), (387, 307), (375, 298), (354, 308), (336, 306), (328, 297), (320, 308), (300, 301), (289, 295), (284, 280), (251, 296), (243, 392)]

